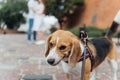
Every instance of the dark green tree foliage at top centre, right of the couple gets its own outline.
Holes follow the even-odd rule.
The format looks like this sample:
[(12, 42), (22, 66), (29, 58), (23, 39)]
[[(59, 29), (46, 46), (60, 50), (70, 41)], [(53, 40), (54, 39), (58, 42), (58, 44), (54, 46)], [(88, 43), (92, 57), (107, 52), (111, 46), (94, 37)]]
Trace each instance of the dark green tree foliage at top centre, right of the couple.
[(62, 18), (69, 11), (78, 6), (84, 6), (84, 0), (46, 0), (46, 14), (53, 14)]

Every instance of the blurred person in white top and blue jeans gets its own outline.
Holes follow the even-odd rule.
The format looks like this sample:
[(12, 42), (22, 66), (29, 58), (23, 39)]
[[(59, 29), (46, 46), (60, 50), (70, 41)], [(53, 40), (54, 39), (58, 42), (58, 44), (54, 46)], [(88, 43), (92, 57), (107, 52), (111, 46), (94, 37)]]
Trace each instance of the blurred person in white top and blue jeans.
[(37, 39), (37, 33), (36, 31), (32, 32), (32, 28), (33, 28), (33, 24), (34, 24), (34, 16), (35, 16), (35, 5), (36, 5), (36, 0), (29, 0), (28, 1), (28, 20), (29, 20), (29, 28), (28, 28), (28, 32), (27, 32), (27, 38), (28, 38), (28, 43), (31, 43), (31, 36), (33, 35), (33, 40), (36, 41)]

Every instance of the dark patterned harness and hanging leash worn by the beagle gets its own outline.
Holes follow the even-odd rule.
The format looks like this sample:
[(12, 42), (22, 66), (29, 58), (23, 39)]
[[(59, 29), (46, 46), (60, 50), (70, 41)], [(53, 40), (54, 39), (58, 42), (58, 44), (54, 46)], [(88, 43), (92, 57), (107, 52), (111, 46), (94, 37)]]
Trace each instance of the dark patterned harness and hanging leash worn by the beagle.
[(87, 58), (90, 58), (91, 60), (91, 71), (92, 71), (92, 66), (94, 64), (94, 58), (93, 58), (93, 55), (92, 55), (92, 52), (91, 50), (89, 49), (88, 45), (87, 45), (87, 42), (88, 42), (88, 35), (85, 31), (81, 31), (80, 32), (80, 38), (81, 40), (84, 42), (85, 44), (85, 49), (84, 49), (84, 52), (80, 58), (80, 61), (82, 61), (82, 68), (81, 68), (81, 78), (80, 80), (84, 80), (84, 71), (85, 71), (85, 62), (86, 62), (86, 59)]

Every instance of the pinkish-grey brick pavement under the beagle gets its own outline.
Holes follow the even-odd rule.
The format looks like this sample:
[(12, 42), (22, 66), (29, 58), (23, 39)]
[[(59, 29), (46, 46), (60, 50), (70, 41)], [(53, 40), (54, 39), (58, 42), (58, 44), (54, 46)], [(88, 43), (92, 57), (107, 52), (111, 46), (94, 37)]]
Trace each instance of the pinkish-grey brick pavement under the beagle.
[[(20, 80), (27, 74), (49, 74), (54, 80), (65, 80), (61, 64), (49, 66), (44, 57), (45, 45), (28, 44), (26, 34), (0, 35), (0, 80)], [(120, 46), (118, 80), (120, 80)], [(97, 80), (112, 80), (107, 61), (97, 69)], [(76, 79), (79, 80), (79, 79)]]

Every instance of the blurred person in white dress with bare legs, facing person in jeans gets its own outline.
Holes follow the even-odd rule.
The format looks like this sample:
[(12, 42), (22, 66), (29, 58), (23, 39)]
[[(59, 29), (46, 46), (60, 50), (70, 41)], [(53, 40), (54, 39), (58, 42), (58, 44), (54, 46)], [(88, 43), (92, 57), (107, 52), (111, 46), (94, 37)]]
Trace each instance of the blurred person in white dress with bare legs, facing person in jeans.
[(45, 11), (45, 4), (43, 0), (36, 0), (37, 3), (34, 6), (34, 24), (33, 24), (33, 32), (37, 32), (37, 35), (39, 37), (39, 41), (36, 41), (36, 44), (43, 44), (45, 43), (44, 40), (44, 31), (43, 31), (43, 19), (44, 19), (44, 11)]

